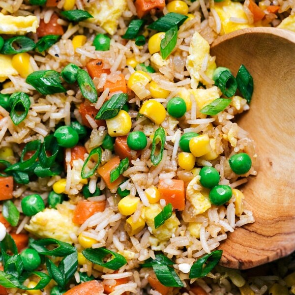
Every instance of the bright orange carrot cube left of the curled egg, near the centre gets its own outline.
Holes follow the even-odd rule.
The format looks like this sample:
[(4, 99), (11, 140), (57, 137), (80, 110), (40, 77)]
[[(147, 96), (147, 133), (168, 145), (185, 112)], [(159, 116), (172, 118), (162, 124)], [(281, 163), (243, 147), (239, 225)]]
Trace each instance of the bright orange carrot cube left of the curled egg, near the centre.
[(174, 209), (184, 210), (184, 181), (180, 179), (172, 179), (172, 181), (173, 184), (167, 184), (164, 179), (160, 180), (158, 190), (160, 192), (161, 199), (166, 200), (166, 204), (171, 203)]

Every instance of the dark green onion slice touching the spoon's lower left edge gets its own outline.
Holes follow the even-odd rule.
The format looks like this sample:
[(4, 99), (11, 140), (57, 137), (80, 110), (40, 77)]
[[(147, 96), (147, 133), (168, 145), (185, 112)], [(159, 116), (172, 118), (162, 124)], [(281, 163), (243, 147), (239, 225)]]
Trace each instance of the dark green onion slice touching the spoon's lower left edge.
[[(195, 279), (206, 276), (218, 264), (221, 256), (222, 250), (216, 250), (198, 259), (191, 267), (189, 278)], [(206, 266), (205, 263), (207, 263)]]

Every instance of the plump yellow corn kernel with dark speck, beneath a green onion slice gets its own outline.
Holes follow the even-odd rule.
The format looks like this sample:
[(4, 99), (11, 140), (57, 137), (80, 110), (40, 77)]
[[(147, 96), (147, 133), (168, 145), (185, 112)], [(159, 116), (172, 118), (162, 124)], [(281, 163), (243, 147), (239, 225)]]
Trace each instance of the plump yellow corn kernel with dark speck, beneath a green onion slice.
[(114, 118), (106, 120), (109, 135), (124, 136), (131, 130), (131, 118), (126, 111), (119, 111), (118, 115)]

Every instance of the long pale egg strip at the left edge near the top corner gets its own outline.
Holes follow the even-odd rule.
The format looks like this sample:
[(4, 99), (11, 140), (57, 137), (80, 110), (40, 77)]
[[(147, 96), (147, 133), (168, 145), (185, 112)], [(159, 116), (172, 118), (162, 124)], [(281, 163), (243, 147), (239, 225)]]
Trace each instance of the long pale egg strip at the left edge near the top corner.
[(34, 15), (12, 16), (0, 13), (0, 34), (24, 35), (36, 32), (39, 27), (38, 19)]

